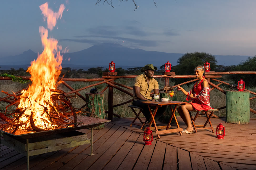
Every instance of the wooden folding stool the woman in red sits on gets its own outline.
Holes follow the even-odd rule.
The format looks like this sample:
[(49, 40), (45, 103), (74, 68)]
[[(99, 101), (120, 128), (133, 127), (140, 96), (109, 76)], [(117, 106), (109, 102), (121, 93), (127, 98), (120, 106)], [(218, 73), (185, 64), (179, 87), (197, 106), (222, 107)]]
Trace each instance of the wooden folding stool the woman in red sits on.
[[(197, 111), (197, 110), (196, 110), (197, 113), (196, 113), (196, 116), (195, 116), (194, 118), (192, 117), (191, 112), (189, 112), (190, 118), (191, 118), (191, 121), (192, 121), (192, 125), (193, 125), (193, 127), (194, 127), (194, 129), (195, 129), (195, 132), (197, 133), (197, 129), (212, 129), (212, 132), (214, 132), (213, 127), (212, 127), (212, 123), (211, 123), (211, 120), (210, 120), (210, 119), (211, 119), (213, 113), (214, 113), (214, 112), (217, 112), (217, 111), (219, 111), (219, 110), (218, 110), (218, 109), (209, 109), (209, 110), (207, 110), (207, 111), (204, 111), (204, 110)], [(206, 122), (205, 122), (204, 124), (195, 125), (196, 118), (197, 118), (197, 116), (198, 116), (198, 114), (199, 114), (200, 112), (204, 112), (204, 113), (205, 113), (205, 115), (206, 115), (206, 117), (207, 117), (207, 120), (206, 120)], [(208, 115), (207, 112), (211, 112), (211, 114)], [(207, 125), (208, 122), (209, 122), (209, 124), (210, 124), (210, 127), (206, 127), (206, 125)]]

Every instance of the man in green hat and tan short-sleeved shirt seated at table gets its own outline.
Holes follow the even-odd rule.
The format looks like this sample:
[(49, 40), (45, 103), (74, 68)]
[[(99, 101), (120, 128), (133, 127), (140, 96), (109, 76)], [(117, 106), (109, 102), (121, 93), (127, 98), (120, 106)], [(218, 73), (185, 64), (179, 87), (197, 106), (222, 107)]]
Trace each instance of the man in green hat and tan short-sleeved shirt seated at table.
[[(133, 86), (133, 102), (132, 104), (135, 106), (142, 107), (142, 113), (147, 119), (149, 123), (151, 120), (149, 108), (146, 103), (142, 103), (142, 101), (155, 101), (153, 99), (154, 94), (158, 94), (159, 86), (158, 82), (153, 78), (154, 71), (157, 70), (157, 67), (152, 64), (147, 64), (141, 68), (141, 72), (143, 74), (136, 76)], [(154, 91), (154, 94), (150, 93)], [(156, 112), (155, 121), (157, 122), (163, 112), (166, 110), (167, 106), (158, 107)]]

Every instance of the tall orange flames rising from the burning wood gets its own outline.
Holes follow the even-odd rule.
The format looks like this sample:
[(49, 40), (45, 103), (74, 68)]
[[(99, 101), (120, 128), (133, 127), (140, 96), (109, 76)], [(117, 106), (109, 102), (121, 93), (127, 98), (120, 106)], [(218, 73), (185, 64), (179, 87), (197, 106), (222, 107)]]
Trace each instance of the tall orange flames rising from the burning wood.
[[(63, 4), (60, 5), (59, 12), (55, 13), (48, 8), (48, 3), (40, 5), (42, 14), (47, 18), (47, 25), (50, 30), (56, 25), (57, 19), (62, 17), (62, 12), (65, 9)], [(29, 119), (33, 116), (33, 122), (36, 127), (45, 129), (57, 128), (57, 124), (50, 121), (49, 111), (55, 109), (51, 95), (56, 92), (50, 89), (56, 89), (56, 82), (61, 73), (62, 55), (60, 50), (62, 46), (58, 45), (58, 41), (54, 38), (48, 38), (48, 30), (43, 26), (39, 27), (40, 37), (44, 50), (42, 54), (38, 54), (37, 60), (31, 62), (31, 66), (27, 72), (31, 74), (28, 90), (23, 90), (18, 108), (27, 108), (23, 116), (19, 118), (19, 123), (26, 122), (22, 126), (31, 127)], [(54, 108), (53, 108), (54, 107)]]

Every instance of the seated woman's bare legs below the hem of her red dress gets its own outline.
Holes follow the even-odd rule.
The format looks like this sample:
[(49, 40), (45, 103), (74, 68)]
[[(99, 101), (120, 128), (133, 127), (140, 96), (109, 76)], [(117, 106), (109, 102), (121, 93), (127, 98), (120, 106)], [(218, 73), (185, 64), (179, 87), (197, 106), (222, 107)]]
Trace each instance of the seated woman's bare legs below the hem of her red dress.
[(193, 108), (193, 106), (190, 103), (188, 103), (186, 105), (181, 105), (178, 108), (178, 112), (179, 112), (182, 120), (187, 125), (186, 130), (188, 132), (193, 131), (193, 126), (191, 124), (191, 118), (190, 118), (190, 115), (189, 115), (189, 111), (193, 111), (193, 110), (194, 110), (194, 108)]

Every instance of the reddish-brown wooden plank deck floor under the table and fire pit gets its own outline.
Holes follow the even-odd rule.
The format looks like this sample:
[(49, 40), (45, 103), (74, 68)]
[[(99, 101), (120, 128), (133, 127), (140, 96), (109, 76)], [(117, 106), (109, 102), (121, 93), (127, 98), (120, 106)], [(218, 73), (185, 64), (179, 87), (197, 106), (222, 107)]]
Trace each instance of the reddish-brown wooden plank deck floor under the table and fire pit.
[[(177, 119), (184, 129), (184, 122)], [(231, 124), (224, 118), (211, 118), (214, 127), (225, 126), (224, 139), (208, 130), (182, 136), (175, 132), (160, 139), (154, 135), (150, 146), (144, 145), (138, 126), (129, 126), (132, 120), (115, 118), (105, 128), (94, 130), (93, 156), (88, 155), (90, 145), (86, 144), (31, 156), (30, 169), (256, 169), (255, 119), (249, 124)], [(205, 120), (198, 117), (196, 123)], [(89, 129), (82, 132), (90, 138)], [(1, 156), (0, 169), (27, 168), (26, 157), (17, 151), (1, 145)]]

